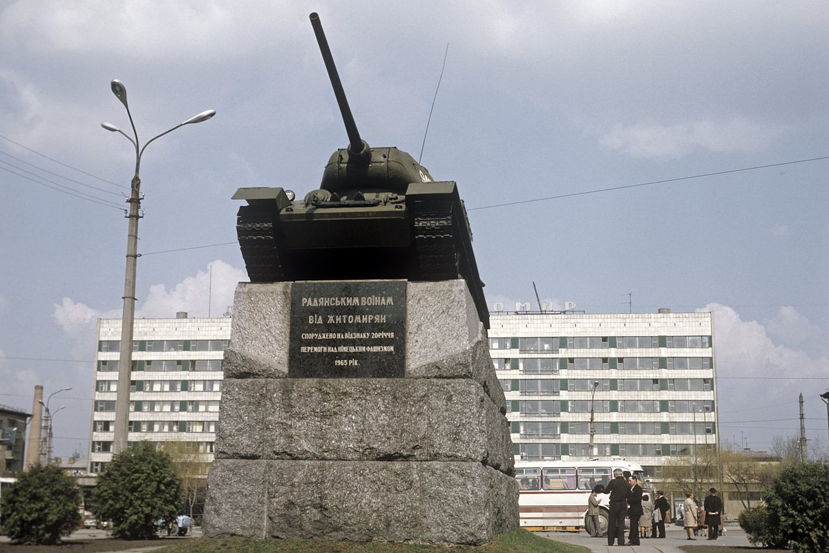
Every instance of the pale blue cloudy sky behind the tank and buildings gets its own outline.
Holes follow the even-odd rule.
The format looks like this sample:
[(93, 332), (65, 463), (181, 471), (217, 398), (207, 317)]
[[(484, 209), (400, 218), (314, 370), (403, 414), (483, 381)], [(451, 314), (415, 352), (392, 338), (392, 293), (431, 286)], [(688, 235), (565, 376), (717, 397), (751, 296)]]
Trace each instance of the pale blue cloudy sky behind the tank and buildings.
[(490, 305), (713, 312), (721, 441), (796, 438), (802, 393), (829, 452), (825, 2), (0, 0), (0, 404), (72, 387), (56, 455), (124, 295), (110, 81), (142, 144), (217, 111), (143, 154), (137, 316), (221, 316), (236, 188), (302, 197), (347, 144), (310, 12), (362, 137), (458, 183)]

